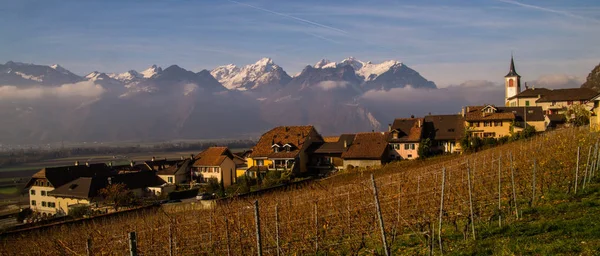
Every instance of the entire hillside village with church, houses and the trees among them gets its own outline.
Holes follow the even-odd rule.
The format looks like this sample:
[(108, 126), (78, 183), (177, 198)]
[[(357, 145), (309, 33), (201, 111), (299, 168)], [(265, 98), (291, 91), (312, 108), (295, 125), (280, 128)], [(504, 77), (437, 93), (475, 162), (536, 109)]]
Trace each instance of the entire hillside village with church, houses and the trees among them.
[(385, 131), (322, 136), (311, 125), (279, 126), (242, 152), (213, 146), (179, 159), (43, 168), (25, 186), (31, 214), (23, 222), (106, 214), (149, 203), (213, 200), (251, 192), (256, 184), (265, 188), (394, 161), (473, 152), (564, 126), (596, 129), (600, 124), (600, 93), (594, 90), (527, 84), (522, 90), (512, 58), (504, 80), (504, 106), (398, 117)]

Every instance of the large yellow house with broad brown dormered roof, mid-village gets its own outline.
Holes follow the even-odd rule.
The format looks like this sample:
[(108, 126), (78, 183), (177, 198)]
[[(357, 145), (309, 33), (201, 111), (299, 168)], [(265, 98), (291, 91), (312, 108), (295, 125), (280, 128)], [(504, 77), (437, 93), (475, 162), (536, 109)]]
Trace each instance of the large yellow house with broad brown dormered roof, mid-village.
[[(308, 170), (307, 149), (323, 142), (313, 126), (279, 126), (263, 134), (247, 158), (248, 170), (266, 166), (268, 170), (303, 173)], [(256, 169), (256, 168), (254, 168)]]

